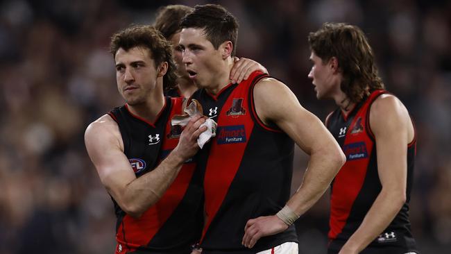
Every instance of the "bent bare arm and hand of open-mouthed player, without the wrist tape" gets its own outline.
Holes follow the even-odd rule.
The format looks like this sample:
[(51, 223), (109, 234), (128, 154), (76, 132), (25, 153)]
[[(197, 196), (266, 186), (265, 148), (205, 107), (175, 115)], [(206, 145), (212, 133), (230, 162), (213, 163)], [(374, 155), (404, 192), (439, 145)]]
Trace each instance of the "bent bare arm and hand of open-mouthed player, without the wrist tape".
[[(271, 94), (271, 96), (269, 96)], [(297, 215), (305, 213), (318, 201), (345, 162), (339, 144), (323, 123), (305, 110), (289, 88), (273, 78), (257, 83), (255, 110), (264, 123), (277, 124), (310, 155), (303, 183), (287, 205)], [(252, 248), (257, 239), (287, 229), (277, 216), (251, 219), (246, 224), (243, 244)]]

